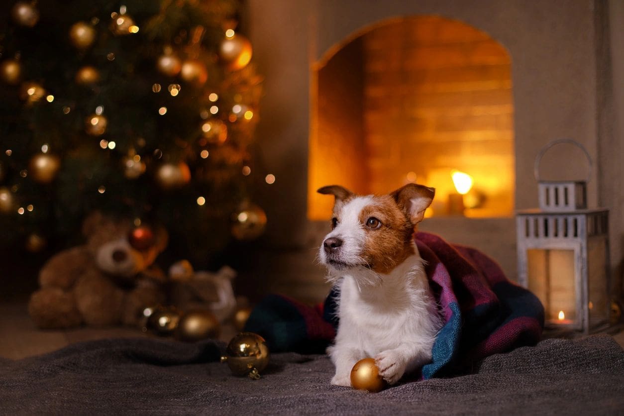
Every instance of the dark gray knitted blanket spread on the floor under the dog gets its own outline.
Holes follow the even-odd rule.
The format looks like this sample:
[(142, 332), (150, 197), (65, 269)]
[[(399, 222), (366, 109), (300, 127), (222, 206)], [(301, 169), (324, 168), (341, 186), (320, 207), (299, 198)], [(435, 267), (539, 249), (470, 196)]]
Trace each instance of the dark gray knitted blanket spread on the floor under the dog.
[(473, 374), (377, 394), (329, 385), (325, 356), (274, 354), (235, 377), (223, 344), (111, 339), (0, 361), (0, 414), (624, 414), (624, 351), (610, 336), (550, 339)]

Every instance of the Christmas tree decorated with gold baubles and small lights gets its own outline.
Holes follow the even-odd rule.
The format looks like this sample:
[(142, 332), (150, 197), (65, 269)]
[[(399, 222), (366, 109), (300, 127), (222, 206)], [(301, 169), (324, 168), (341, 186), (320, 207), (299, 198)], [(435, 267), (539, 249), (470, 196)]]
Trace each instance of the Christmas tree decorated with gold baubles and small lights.
[(1, 7), (2, 246), (77, 244), (94, 210), (165, 226), (174, 256), (199, 266), (260, 233), (261, 79), (240, 1)]

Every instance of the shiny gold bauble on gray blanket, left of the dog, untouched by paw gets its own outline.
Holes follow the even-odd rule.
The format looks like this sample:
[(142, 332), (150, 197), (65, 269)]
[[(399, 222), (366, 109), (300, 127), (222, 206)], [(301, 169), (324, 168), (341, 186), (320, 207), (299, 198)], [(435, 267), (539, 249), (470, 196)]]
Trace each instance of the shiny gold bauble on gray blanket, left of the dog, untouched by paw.
[(263, 337), (253, 332), (241, 332), (232, 338), (221, 362), (227, 362), (234, 375), (260, 379), (260, 372), (269, 364), (269, 348)]

